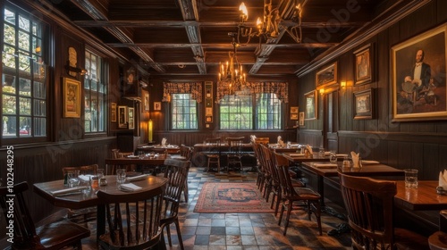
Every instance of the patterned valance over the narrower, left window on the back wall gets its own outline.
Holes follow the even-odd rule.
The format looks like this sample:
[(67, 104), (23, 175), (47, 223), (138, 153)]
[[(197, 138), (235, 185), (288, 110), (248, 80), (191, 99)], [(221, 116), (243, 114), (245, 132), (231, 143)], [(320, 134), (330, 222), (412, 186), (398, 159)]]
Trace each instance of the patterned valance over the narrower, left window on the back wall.
[(164, 82), (163, 83), (163, 102), (171, 100), (171, 94), (191, 94), (191, 98), (198, 103), (202, 102), (202, 83), (201, 82)]

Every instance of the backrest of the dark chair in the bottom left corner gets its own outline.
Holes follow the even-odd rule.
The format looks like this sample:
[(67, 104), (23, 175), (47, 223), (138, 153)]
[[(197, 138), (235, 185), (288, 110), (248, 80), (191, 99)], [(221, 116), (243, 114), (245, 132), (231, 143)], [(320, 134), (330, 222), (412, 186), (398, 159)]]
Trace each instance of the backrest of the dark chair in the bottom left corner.
[[(10, 192), (10, 190), (13, 190)], [(14, 238), (13, 245), (21, 246), (23, 249), (43, 249), (40, 244), (40, 238), (36, 234), (36, 228), (34, 221), (32, 221), (28, 206), (25, 203), (23, 193), (28, 190), (28, 183), (21, 182), (11, 187), (0, 187), (1, 201), (0, 205), (4, 212), (4, 218), (9, 221), (11, 215), (8, 215), (10, 211), (13, 211), (13, 225), (7, 224), (6, 226), (13, 226)], [(13, 202), (11, 202), (13, 200)], [(40, 247), (39, 247), (40, 246)], [(20, 248), (21, 248), (20, 247)]]

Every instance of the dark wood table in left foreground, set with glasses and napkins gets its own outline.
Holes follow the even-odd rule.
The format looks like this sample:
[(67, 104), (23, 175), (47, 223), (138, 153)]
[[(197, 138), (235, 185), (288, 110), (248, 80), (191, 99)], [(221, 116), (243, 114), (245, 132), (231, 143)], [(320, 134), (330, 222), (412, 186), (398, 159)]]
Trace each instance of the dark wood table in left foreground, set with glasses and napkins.
[[(166, 184), (167, 179), (156, 176), (148, 176), (147, 179), (140, 179), (132, 181), (135, 185), (143, 187), (139, 191), (123, 192), (118, 189), (116, 185), (116, 176), (107, 175), (107, 185), (104, 187), (99, 187), (102, 191), (109, 194), (122, 194), (125, 196), (131, 196), (132, 193), (138, 193), (141, 191), (146, 191), (148, 189), (155, 189), (157, 187), (162, 187)], [(33, 186), (33, 191), (39, 196), (44, 197), (47, 201), (55, 206), (71, 208), (71, 209), (81, 209), (91, 206), (97, 206), (97, 237), (105, 233), (105, 205), (99, 204), (95, 190), (92, 190), (89, 195), (79, 192), (78, 194), (66, 195), (66, 196), (53, 196), (52, 191), (62, 190), (67, 188), (63, 185), (63, 179), (58, 179), (54, 181), (35, 183)]]

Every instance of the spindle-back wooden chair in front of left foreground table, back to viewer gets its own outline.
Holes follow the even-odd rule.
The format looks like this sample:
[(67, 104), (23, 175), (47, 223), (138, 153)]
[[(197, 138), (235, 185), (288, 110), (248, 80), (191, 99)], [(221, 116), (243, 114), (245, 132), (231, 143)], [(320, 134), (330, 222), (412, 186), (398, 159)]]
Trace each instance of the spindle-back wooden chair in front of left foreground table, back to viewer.
[[(148, 249), (160, 243), (164, 187), (133, 193), (97, 192), (105, 204), (108, 230), (98, 237), (103, 249)], [(158, 249), (158, 248), (156, 248)]]

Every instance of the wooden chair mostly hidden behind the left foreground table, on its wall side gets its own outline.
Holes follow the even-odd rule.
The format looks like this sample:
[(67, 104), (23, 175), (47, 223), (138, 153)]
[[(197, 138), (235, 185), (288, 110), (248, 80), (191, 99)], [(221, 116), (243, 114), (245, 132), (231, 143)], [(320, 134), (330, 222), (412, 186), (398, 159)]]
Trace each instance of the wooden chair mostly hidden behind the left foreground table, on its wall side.
[[(97, 174), (98, 165), (97, 164), (90, 164), (86, 166), (80, 166), (80, 167), (64, 167), (62, 169), (63, 177), (67, 176), (67, 173), (71, 171), (80, 171), (80, 174), (91, 174), (96, 175)], [(75, 221), (77, 223), (85, 223), (85, 226), (88, 227), (87, 222), (97, 220), (97, 207), (92, 206), (88, 208), (82, 208), (82, 209), (68, 209), (67, 210), (67, 217), (71, 221)], [(82, 217), (82, 219), (80, 219)]]

